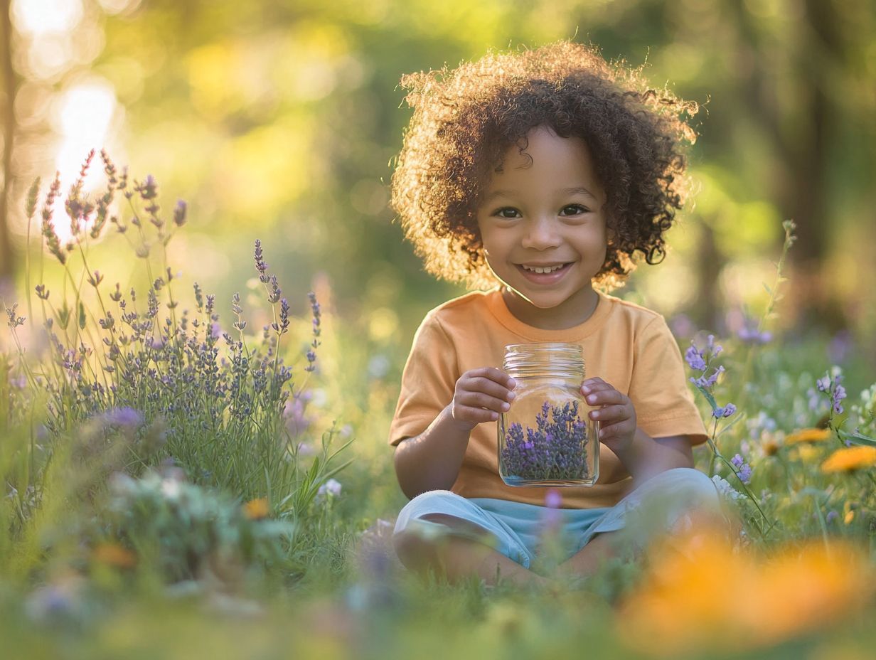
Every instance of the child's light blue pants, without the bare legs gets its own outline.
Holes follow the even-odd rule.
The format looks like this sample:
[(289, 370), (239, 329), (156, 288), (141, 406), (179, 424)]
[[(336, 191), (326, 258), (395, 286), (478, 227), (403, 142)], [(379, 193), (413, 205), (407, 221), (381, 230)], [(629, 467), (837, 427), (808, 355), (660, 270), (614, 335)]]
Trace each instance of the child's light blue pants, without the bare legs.
[[(560, 530), (562, 538), (567, 540), (565, 550), (571, 557), (593, 536), (625, 529), (628, 524), (648, 528), (639, 537), (641, 543), (646, 543), (650, 532), (671, 529), (683, 515), (701, 507), (720, 510), (715, 485), (703, 472), (679, 467), (648, 479), (614, 507), (606, 508), (551, 509), (485, 497), (467, 499), (450, 491), (428, 491), (402, 508), (394, 533), (413, 531), (426, 537), (473, 538), (529, 568), (539, 555), (540, 542), (548, 527)], [(636, 511), (644, 515), (634, 517), (632, 514)], [(424, 519), (436, 514), (473, 524), (453, 526)]]

